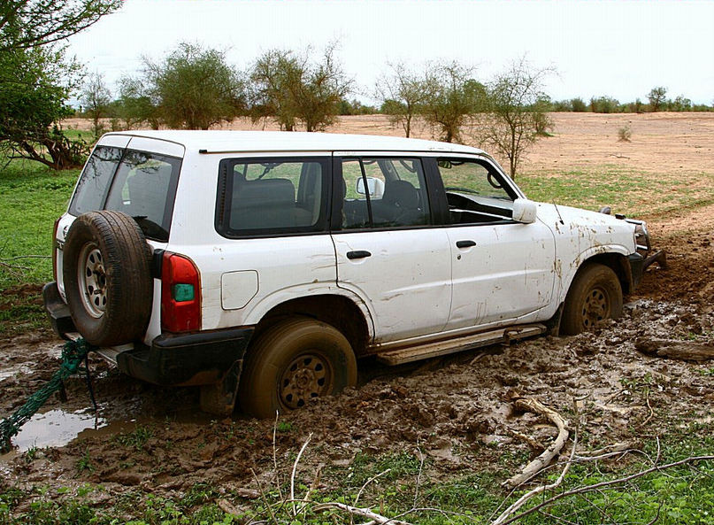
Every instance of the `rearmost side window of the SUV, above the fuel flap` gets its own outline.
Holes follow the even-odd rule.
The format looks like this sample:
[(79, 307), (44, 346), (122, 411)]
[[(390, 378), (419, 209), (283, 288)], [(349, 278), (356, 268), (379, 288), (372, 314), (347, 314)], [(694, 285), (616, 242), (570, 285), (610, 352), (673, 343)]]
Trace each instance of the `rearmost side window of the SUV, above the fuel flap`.
[(221, 235), (326, 231), (327, 158), (225, 159), (220, 174)]

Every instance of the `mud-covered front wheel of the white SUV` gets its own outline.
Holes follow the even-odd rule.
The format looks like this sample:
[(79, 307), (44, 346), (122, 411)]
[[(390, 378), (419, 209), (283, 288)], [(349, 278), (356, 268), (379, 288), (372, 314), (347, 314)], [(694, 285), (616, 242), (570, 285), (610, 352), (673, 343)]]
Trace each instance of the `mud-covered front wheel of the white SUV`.
[(560, 333), (574, 336), (621, 314), (622, 285), (618, 276), (608, 266), (590, 264), (575, 275), (568, 290)]

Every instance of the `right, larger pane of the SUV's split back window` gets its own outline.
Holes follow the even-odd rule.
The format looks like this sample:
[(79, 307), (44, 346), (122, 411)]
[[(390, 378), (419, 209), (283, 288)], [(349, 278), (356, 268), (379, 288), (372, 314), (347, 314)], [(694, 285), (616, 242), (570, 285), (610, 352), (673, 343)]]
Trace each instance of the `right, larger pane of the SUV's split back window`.
[(168, 241), (180, 159), (127, 150), (104, 209), (131, 215), (144, 235)]

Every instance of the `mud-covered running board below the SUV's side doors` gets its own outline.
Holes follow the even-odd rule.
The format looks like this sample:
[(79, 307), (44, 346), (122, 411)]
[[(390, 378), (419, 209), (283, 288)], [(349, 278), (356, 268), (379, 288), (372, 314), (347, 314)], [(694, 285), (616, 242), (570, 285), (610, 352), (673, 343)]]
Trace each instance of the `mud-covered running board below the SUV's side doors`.
[(377, 354), (377, 360), (387, 365), (403, 365), (419, 359), (436, 358), (458, 351), (472, 350), (490, 344), (508, 344), (516, 339), (539, 336), (548, 331), (545, 325), (534, 324), (522, 327), (498, 328), (471, 336), (458, 337), (437, 341), (436, 343), (408, 346), (398, 350), (385, 351)]

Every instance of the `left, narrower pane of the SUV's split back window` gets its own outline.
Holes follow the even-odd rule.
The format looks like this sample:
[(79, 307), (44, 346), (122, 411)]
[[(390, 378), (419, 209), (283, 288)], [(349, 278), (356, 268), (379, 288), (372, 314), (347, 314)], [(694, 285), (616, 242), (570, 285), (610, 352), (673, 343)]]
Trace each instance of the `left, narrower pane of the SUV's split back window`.
[(77, 189), (69, 207), (73, 215), (101, 210), (111, 177), (117, 171), (121, 159), (119, 148), (98, 146), (84, 167)]

